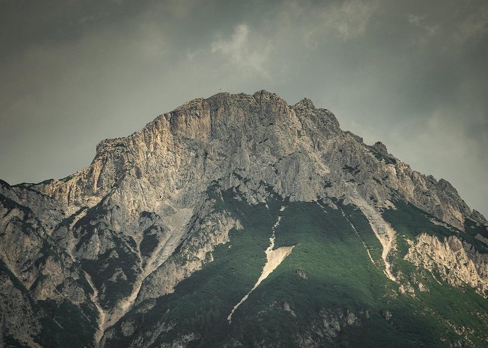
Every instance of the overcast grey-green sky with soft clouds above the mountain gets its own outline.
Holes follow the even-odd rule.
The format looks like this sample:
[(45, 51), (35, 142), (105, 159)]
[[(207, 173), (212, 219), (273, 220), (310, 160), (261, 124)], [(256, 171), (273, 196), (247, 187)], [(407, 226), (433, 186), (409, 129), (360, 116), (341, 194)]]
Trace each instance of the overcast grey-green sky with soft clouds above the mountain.
[(305, 95), (488, 217), (488, 2), (0, 0), (0, 178), (219, 90)]

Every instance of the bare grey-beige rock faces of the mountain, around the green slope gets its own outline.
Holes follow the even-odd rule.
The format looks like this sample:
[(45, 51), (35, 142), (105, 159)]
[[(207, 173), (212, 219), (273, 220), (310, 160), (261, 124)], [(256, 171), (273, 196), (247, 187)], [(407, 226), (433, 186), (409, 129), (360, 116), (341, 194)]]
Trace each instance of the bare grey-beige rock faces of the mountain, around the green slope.
[[(49, 313), (61, 306), (85, 323), (75, 338), (82, 346), (136, 335), (135, 324), (125, 317), (153, 308), (183, 279), (213, 263), (213, 251), (231, 242), (231, 230), (243, 229), (243, 216), (220, 207), (227, 202), (224, 192), (250, 206), (268, 206), (277, 196), (296, 204), (319, 202), (323, 209), (356, 207), (381, 242), (376, 260), (359, 228), (356, 234), (372, 264), (393, 282), (408, 283), (391, 266), (402, 234), (382, 216), (397, 209), (397, 202), (417, 207), (438, 221), (435, 226), (443, 223), (456, 233), (469, 236), (466, 226), (475, 226), (480, 248), (488, 237), (485, 218), (449, 182), (412, 171), (380, 142), (369, 146), (343, 132), (333, 113), (311, 100), (290, 106), (264, 90), (219, 93), (162, 114), (128, 137), (100, 142), (91, 165), (70, 177), (14, 186), (0, 182), (1, 294), (16, 294), (6, 299), (3, 318), (7, 307), (22, 308), (14, 321), (3, 319), (3, 336), (49, 345), (52, 331), (70, 333), (59, 318), (47, 324)], [(435, 264), (446, 283), (484, 293), (485, 256), (469, 252), (460, 239), (462, 247), (448, 248), (452, 237), (432, 238), (428, 248), (425, 237), (411, 242), (404, 259), (429, 271)], [(459, 250), (467, 254), (461, 258)], [(469, 269), (459, 266), (464, 260), (478, 276), (466, 275)], [(349, 308), (320, 313), (313, 325), (323, 320), (333, 329), (317, 337), (297, 334), (297, 340), (330, 341), (342, 327), (365, 321), (364, 315), (350, 319)], [(160, 329), (151, 331), (153, 341), (175, 325), (160, 322)], [(137, 337), (133, 345), (142, 342)], [(191, 332), (174, 342), (185, 345), (199, 337)]]

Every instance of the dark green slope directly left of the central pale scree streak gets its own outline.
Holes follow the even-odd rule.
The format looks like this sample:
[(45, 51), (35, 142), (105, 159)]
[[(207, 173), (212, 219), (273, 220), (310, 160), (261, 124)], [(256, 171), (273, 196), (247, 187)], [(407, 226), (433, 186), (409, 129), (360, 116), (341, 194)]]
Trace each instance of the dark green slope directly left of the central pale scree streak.
[[(137, 322), (144, 320), (142, 330), (151, 329), (162, 319), (162, 313), (167, 313), (165, 320), (178, 322), (178, 329), (169, 331), (155, 345), (169, 342), (180, 333), (195, 328), (206, 332), (206, 345), (216, 343), (213, 337), (222, 338), (222, 333), (228, 331), (227, 315), (252, 288), (266, 262), (264, 251), (279, 213), (279, 201), (270, 200), (269, 209), (266, 209), (264, 204), (252, 206), (236, 200), (229, 191), (222, 193), (222, 200), (216, 184), (207, 193), (209, 199), (215, 201), (216, 210), (227, 209), (241, 219), (245, 230), (231, 230), (231, 242), (213, 251), (214, 262), (183, 280), (174, 294), (158, 299), (149, 313), (142, 315), (133, 310), (127, 315)], [(122, 335), (118, 338), (121, 340), (110, 344), (127, 345)]]

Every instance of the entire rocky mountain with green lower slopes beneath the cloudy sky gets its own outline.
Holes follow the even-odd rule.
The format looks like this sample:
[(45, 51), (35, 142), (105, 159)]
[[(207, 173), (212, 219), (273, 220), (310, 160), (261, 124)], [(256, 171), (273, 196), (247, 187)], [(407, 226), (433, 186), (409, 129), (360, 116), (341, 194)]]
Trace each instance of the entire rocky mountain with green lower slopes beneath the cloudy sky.
[(192, 100), (0, 216), (6, 347), (488, 345), (488, 222), (306, 98)]

